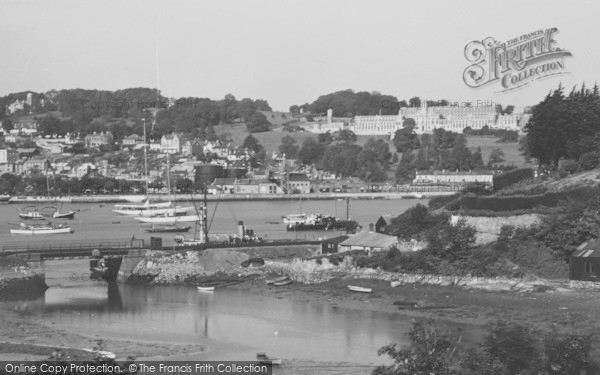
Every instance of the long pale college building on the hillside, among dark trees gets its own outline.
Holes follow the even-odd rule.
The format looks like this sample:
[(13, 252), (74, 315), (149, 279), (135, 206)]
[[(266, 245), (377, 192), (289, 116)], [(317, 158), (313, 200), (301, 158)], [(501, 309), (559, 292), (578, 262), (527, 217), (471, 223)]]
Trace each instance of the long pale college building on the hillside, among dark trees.
[[(478, 106), (445, 106), (428, 107), (425, 101), (420, 107), (405, 107), (397, 115), (356, 116), (347, 126), (335, 123), (328, 112), (328, 121), (324, 124), (312, 124), (307, 130), (312, 133), (335, 132), (348, 129), (359, 135), (390, 135), (402, 129), (405, 119), (415, 120), (417, 134), (431, 133), (441, 128), (455, 133), (462, 133), (466, 127), (481, 129), (488, 126), (492, 129), (520, 130), (524, 123), (523, 115), (501, 115), (493, 104), (484, 103)], [(331, 110), (330, 110), (331, 111)]]

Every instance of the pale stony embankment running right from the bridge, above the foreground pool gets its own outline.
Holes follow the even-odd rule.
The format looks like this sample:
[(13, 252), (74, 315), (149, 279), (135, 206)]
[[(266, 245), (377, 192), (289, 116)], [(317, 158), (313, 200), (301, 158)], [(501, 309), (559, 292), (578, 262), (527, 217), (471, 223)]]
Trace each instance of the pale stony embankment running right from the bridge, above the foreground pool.
[[(240, 282), (252, 278), (285, 275), (303, 284), (318, 284), (333, 279), (367, 279), (394, 282), (394, 285), (437, 285), (496, 292), (543, 292), (569, 289), (590, 289), (588, 284), (573, 284), (568, 280), (546, 280), (535, 276), (522, 278), (475, 277), (469, 275), (433, 275), (386, 272), (380, 269), (359, 268), (350, 256), (340, 262), (327, 258), (306, 259), (316, 254), (314, 246), (298, 249), (293, 259), (271, 259), (263, 264), (244, 267), (242, 264), (256, 258), (260, 251), (249, 254), (237, 249), (209, 249), (169, 254), (148, 252), (137, 264), (133, 274), (153, 283), (214, 283)], [(301, 250), (301, 251), (300, 251)], [(300, 252), (303, 254), (300, 255)], [(271, 254), (272, 255), (272, 254)], [(302, 259), (304, 258), (304, 259)], [(334, 263), (332, 263), (334, 262)], [(247, 262), (246, 262), (247, 263)]]

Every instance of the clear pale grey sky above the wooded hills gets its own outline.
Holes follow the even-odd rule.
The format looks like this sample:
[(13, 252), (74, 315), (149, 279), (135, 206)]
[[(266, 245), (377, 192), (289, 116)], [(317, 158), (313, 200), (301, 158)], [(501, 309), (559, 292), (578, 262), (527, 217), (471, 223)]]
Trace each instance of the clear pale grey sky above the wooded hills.
[[(159, 87), (287, 111), (352, 89), (521, 107), (598, 81), (598, 16), (579, 0), (2, 0), (0, 95)], [(504, 93), (464, 83), (469, 42), (552, 27), (569, 74)]]

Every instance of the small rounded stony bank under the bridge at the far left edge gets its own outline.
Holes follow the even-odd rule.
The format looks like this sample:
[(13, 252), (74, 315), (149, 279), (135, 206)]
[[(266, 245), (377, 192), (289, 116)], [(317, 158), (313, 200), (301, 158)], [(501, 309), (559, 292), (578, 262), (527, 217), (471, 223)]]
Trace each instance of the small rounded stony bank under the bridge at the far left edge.
[(0, 257), (0, 301), (35, 299), (48, 289), (44, 274), (13, 256)]

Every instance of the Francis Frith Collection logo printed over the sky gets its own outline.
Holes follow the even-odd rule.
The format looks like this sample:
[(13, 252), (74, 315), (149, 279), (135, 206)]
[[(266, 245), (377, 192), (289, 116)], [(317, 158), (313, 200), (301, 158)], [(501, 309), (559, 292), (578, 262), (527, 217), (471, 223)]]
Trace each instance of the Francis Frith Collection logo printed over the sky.
[(537, 79), (568, 73), (565, 57), (571, 52), (558, 48), (553, 39), (557, 28), (537, 30), (500, 43), (492, 37), (472, 41), (465, 58), (472, 63), (463, 73), (469, 87), (479, 88), (499, 82), (499, 92), (523, 87)]

